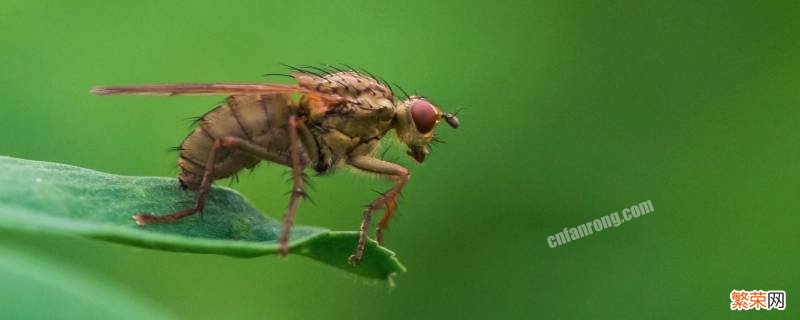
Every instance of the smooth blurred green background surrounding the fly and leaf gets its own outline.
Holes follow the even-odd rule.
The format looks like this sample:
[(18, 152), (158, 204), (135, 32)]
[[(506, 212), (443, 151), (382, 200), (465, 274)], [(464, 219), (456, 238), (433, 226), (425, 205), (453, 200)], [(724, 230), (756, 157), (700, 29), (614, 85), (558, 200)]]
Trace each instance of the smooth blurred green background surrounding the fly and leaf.
[[(424, 165), (403, 160), (413, 179), (387, 246), (408, 272), (394, 289), (296, 256), (11, 230), (0, 245), (176, 318), (796, 318), (798, 17), (797, 1), (1, 0), (3, 155), (172, 176), (184, 119), (221, 98), (89, 88), (285, 81), (260, 76), (280, 63), (361, 66), (467, 110)], [(233, 187), (279, 217), (282, 172)], [(299, 223), (334, 230), (355, 230), (369, 190), (388, 186), (315, 182)], [(547, 245), (645, 200), (655, 213)], [(732, 312), (732, 289), (786, 290), (788, 308)], [(58, 306), (36, 292), (0, 310)], [(104, 301), (92, 292), (77, 295)]]

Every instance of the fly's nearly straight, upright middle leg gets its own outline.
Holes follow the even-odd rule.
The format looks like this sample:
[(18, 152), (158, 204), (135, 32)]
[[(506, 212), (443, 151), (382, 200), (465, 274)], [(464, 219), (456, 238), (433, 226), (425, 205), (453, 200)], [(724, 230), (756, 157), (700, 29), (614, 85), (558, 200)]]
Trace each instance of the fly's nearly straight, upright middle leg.
[[(303, 185), (303, 164), (300, 161), (300, 144), (297, 136), (298, 119), (296, 116), (289, 116), (289, 152), (291, 154), (291, 167), (292, 167), (292, 191), (289, 198), (289, 208), (286, 209), (286, 214), (283, 215), (283, 232), (279, 239), (280, 247), (278, 253), (281, 256), (286, 256), (289, 253), (289, 235), (294, 225), (294, 218), (297, 213), (297, 205), (300, 198), (308, 197)], [(305, 128), (305, 127), (303, 127)]]

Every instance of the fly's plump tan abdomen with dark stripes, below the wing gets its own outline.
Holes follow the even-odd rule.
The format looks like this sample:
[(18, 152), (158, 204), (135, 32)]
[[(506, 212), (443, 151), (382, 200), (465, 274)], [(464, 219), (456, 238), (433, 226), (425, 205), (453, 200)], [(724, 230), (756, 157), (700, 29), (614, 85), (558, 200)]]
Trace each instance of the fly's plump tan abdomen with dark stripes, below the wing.
[[(287, 120), (291, 100), (284, 95), (230, 96), (225, 103), (198, 121), (180, 146), (178, 180), (181, 185), (197, 190), (203, 179), (205, 164), (214, 141), (235, 136), (252, 141), (275, 154), (289, 159)], [(213, 180), (230, 177), (244, 168), (253, 168), (261, 160), (239, 150), (220, 148), (214, 159)]]

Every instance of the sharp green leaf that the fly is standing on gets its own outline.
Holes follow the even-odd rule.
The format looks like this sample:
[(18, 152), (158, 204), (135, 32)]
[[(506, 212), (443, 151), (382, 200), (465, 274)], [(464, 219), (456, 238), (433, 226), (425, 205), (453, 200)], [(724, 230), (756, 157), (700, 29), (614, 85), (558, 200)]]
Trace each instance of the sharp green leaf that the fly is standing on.
[[(214, 187), (202, 217), (138, 226), (135, 212), (174, 212), (194, 193), (175, 179), (127, 177), (79, 167), (0, 157), (0, 226), (68, 233), (134, 246), (237, 257), (274, 254), (281, 223), (261, 214), (236, 191)], [(347, 263), (358, 232), (295, 226), (290, 253), (358, 275), (390, 279), (405, 271), (393, 252), (370, 240), (359, 266)]]

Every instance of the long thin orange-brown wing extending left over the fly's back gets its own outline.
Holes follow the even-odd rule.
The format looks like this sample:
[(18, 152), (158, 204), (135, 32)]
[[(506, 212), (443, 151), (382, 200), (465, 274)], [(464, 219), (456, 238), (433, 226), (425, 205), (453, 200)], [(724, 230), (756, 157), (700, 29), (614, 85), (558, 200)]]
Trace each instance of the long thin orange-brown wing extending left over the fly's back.
[(300, 93), (316, 98), (325, 104), (337, 104), (345, 99), (339, 95), (322, 93), (296, 85), (277, 83), (198, 83), (198, 84), (156, 84), (139, 86), (94, 87), (96, 95), (131, 94), (151, 96), (177, 95), (260, 95)]

